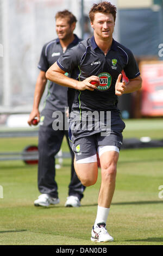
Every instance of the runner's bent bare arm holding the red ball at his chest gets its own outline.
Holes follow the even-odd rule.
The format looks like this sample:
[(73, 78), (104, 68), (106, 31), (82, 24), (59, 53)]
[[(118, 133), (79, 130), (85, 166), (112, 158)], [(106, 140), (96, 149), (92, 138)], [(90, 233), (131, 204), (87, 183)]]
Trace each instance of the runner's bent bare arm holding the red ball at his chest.
[(60, 84), (60, 86), (70, 87), (76, 90), (94, 90), (97, 86), (94, 86), (90, 82), (97, 81), (97, 76), (90, 76), (86, 78), (84, 81), (80, 82), (74, 80), (73, 78), (67, 77), (64, 75), (65, 71), (60, 69), (57, 62), (55, 62), (46, 72), (46, 78), (51, 80), (54, 83)]

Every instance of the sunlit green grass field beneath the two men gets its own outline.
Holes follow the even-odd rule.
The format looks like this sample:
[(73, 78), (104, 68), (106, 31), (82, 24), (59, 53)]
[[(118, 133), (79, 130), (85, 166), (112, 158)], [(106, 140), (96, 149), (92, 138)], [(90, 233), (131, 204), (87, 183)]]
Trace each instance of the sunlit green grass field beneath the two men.
[[(127, 120), (124, 138), (163, 138), (162, 119)], [(1, 138), (0, 151), (22, 151), (37, 138)], [(66, 142), (62, 151), (68, 151)], [(114, 242), (102, 245), (163, 245), (163, 148), (121, 150), (117, 182), (107, 228)], [(70, 159), (57, 170), (60, 204), (35, 207), (37, 166), (0, 161), (0, 245), (96, 245), (91, 228), (96, 218), (100, 169), (96, 185), (86, 188), (80, 208), (65, 208)], [(162, 193), (163, 195), (163, 193)]]

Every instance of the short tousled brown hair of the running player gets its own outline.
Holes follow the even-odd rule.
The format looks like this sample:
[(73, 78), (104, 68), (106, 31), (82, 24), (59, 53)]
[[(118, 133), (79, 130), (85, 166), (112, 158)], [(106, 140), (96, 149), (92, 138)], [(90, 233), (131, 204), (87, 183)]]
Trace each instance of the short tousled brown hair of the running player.
[(114, 22), (115, 22), (116, 12), (117, 12), (117, 8), (115, 7), (115, 5), (112, 5), (110, 2), (104, 1), (99, 4), (92, 5), (92, 8), (89, 12), (89, 17), (91, 22), (93, 22), (95, 18), (95, 13), (104, 13), (104, 14), (110, 13), (114, 17)]

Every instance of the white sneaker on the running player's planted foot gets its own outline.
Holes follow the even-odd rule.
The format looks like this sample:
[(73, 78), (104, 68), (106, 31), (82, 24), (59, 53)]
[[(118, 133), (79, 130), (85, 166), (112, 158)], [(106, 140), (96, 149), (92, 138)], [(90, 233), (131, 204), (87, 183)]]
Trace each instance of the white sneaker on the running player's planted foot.
[(92, 228), (91, 241), (93, 242), (109, 242), (113, 241), (114, 238), (109, 235), (105, 228), (105, 223), (98, 223), (96, 227)]

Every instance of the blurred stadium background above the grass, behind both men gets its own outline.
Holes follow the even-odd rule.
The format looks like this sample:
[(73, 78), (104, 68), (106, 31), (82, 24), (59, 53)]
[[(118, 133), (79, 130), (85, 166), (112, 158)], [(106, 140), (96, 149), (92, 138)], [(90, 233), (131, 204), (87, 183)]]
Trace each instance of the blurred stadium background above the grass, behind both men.
[[(77, 16), (75, 33), (83, 38), (92, 34), (88, 12), (95, 0), (1, 0), (0, 1), (0, 113), (5, 124), (9, 113), (30, 113), (42, 45), (54, 39), (55, 13), (69, 9)], [(124, 118), (163, 115), (162, 64), (150, 71), (142, 61), (163, 60), (162, 0), (115, 0), (118, 8), (114, 38), (133, 51), (145, 77), (148, 95), (137, 93), (120, 99)], [(160, 48), (159, 48), (160, 47)], [(158, 76), (158, 79), (157, 79)], [(155, 78), (149, 80), (149, 78)], [(148, 85), (150, 84), (150, 88)], [(46, 92), (45, 92), (46, 94)], [(139, 94), (139, 93), (138, 93)], [(141, 98), (140, 98), (141, 96)], [(143, 100), (142, 100), (143, 99)], [(134, 101), (135, 100), (135, 101)], [(134, 104), (133, 104), (134, 102)], [(145, 104), (153, 104), (146, 111)], [(159, 111), (155, 112), (155, 108)], [(148, 112), (148, 113), (146, 113)]]

